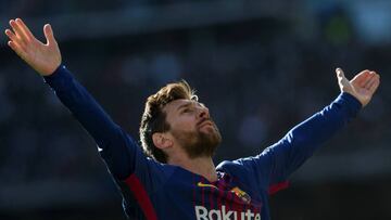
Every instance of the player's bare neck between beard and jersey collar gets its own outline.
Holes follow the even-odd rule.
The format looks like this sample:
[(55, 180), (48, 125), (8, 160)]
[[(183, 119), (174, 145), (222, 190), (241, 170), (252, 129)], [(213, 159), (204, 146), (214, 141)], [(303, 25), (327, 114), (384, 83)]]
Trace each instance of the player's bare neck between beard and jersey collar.
[(212, 157), (198, 157), (198, 158), (193, 158), (193, 159), (172, 158), (168, 160), (167, 164), (176, 165), (176, 166), (187, 169), (193, 173), (200, 174), (210, 182), (217, 181), (216, 167), (212, 160)]

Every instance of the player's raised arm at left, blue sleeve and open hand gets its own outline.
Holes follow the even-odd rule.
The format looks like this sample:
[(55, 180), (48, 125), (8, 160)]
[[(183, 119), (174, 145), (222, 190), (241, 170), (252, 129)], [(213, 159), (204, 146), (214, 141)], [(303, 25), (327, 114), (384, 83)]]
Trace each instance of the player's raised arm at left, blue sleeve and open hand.
[(5, 30), (10, 38), (8, 44), (45, 77), (62, 103), (92, 135), (114, 177), (124, 179), (129, 176), (135, 169), (136, 157), (142, 157), (142, 153), (65, 66), (61, 65), (60, 49), (50, 25), (43, 27), (46, 44), (34, 37), (22, 20), (11, 20), (10, 25), (12, 30)]

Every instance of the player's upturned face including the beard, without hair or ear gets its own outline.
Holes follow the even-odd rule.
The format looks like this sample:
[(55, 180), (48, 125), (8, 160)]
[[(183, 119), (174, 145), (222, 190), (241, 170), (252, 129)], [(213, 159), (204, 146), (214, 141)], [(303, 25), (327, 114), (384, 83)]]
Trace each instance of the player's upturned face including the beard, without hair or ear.
[(169, 131), (190, 158), (213, 156), (222, 142), (209, 109), (192, 100), (175, 100), (163, 107)]

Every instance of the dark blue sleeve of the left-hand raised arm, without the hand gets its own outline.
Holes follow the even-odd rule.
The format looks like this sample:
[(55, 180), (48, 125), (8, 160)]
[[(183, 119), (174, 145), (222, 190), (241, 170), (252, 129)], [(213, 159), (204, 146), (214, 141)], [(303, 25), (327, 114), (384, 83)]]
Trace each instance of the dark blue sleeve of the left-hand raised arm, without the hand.
[(146, 159), (134, 139), (112, 120), (65, 66), (60, 66), (45, 80), (93, 138), (114, 177), (126, 178), (134, 172), (137, 159)]

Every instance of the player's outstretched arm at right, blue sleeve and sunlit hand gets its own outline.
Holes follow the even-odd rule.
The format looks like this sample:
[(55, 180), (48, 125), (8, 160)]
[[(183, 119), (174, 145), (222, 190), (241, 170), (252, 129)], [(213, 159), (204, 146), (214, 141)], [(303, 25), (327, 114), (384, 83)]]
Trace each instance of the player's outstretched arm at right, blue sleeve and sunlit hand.
[(330, 105), (295, 126), (256, 157), (238, 160), (252, 167), (255, 177), (260, 177), (260, 185), (268, 187), (285, 182), (318, 146), (369, 103), (380, 83), (379, 75), (370, 70), (361, 72), (352, 80), (348, 80), (340, 68), (336, 73), (341, 94)]

